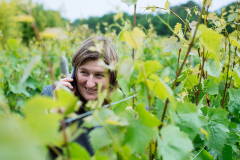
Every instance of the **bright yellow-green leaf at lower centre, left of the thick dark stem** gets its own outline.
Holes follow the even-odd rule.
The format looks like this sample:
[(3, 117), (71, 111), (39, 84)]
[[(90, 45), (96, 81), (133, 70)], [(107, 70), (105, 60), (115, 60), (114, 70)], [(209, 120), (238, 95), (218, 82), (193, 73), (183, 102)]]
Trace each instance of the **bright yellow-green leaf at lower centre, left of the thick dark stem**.
[(139, 114), (139, 119), (141, 122), (149, 127), (157, 127), (161, 124), (161, 122), (149, 111), (145, 109), (144, 104), (140, 104), (136, 106), (136, 111)]

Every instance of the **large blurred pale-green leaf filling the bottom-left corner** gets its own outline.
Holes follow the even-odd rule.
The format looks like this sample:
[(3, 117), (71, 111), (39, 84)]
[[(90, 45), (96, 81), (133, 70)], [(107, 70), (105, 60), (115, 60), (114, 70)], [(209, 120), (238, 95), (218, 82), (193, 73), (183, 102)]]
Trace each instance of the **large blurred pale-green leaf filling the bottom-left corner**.
[[(42, 160), (46, 159), (47, 152), (43, 146), (22, 124), (22, 119), (9, 118), (0, 115), (0, 157), (1, 160)], [(34, 126), (31, 126), (34, 127)]]

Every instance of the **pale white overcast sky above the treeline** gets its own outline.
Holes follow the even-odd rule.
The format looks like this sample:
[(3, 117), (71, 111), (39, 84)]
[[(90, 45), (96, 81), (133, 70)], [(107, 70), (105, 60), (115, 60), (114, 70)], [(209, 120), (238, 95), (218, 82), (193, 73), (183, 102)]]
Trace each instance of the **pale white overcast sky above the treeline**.
[[(44, 5), (45, 9), (60, 11), (61, 15), (65, 18), (74, 21), (78, 18), (88, 18), (90, 16), (103, 16), (104, 14), (119, 11), (128, 12), (133, 14), (133, 5), (128, 7), (121, 0), (32, 0)], [(169, 0), (171, 6), (187, 3), (189, 0)], [(193, 0), (197, 4), (201, 4), (202, 0)], [(213, 0), (210, 11), (217, 11), (220, 8), (237, 0)], [(143, 13), (142, 7), (147, 5), (155, 5), (164, 7), (166, 0), (138, 0), (137, 12)], [(119, 11), (116, 9), (119, 7)]]

